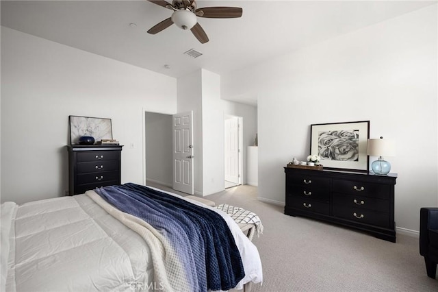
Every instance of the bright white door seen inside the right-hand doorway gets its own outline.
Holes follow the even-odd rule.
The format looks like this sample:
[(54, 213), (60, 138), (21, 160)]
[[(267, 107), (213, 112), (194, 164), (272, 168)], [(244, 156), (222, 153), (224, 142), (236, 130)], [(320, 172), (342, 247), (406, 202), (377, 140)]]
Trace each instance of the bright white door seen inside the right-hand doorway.
[(225, 180), (239, 184), (239, 118), (225, 119)]

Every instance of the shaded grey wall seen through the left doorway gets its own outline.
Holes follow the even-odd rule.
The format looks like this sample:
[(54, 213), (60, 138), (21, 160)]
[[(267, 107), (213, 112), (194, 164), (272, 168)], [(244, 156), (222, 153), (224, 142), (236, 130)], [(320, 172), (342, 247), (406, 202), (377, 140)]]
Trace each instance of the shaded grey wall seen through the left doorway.
[(172, 187), (172, 115), (146, 112), (146, 180)]

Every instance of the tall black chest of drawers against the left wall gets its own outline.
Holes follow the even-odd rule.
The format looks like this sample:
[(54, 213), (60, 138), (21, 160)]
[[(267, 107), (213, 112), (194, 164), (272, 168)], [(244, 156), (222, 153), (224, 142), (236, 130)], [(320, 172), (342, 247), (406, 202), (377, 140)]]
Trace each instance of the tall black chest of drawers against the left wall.
[(120, 184), (121, 145), (72, 145), (68, 149), (68, 193)]

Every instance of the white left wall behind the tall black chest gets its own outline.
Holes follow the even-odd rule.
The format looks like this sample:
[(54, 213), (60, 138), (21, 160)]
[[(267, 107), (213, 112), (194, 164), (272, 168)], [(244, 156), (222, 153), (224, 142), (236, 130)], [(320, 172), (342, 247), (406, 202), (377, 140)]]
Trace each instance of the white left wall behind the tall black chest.
[(1, 202), (68, 189), (70, 114), (112, 119), (122, 182), (142, 184), (144, 110), (176, 109), (175, 78), (1, 27)]

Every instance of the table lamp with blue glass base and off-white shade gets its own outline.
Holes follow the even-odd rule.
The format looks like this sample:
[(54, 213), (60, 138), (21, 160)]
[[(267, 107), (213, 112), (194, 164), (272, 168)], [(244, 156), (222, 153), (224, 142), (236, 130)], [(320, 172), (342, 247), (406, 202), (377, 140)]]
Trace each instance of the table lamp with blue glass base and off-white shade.
[(375, 174), (387, 174), (391, 170), (391, 163), (385, 161), (382, 156), (394, 156), (394, 143), (391, 140), (368, 139), (367, 154), (370, 156), (379, 156), (371, 164), (372, 171)]

